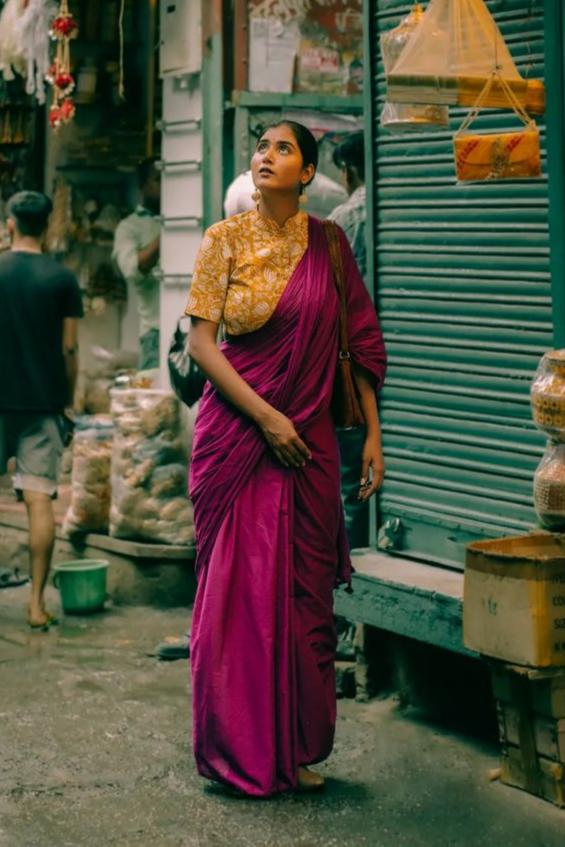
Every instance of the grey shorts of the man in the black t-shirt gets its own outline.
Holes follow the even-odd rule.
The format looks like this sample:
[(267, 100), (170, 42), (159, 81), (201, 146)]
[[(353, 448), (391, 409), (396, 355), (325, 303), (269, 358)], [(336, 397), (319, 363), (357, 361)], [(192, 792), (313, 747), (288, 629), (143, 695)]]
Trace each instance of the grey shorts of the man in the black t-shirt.
[(15, 458), (13, 482), (18, 496), (23, 491), (57, 496), (63, 437), (62, 415), (0, 413), (0, 474), (6, 473), (8, 460)]

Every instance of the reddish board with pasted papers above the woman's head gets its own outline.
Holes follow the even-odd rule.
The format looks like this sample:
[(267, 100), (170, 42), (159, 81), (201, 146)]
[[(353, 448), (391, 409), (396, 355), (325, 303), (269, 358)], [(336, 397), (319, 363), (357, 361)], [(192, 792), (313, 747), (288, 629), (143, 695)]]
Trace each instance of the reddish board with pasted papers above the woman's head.
[(248, 0), (249, 89), (361, 94), (363, 0)]

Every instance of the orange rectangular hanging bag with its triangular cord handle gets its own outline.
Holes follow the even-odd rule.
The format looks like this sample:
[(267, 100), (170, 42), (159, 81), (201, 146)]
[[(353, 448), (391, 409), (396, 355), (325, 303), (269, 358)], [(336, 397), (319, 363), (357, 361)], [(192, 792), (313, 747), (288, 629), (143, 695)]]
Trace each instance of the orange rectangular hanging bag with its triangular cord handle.
[[(508, 104), (524, 124), (515, 132), (471, 133), (494, 85), (506, 93)], [(541, 176), (539, 130), (498, 72), (491, 74), (475, 108), (469, 112), (453, 139), (455, 168), (460, 182), (528, 179)]]

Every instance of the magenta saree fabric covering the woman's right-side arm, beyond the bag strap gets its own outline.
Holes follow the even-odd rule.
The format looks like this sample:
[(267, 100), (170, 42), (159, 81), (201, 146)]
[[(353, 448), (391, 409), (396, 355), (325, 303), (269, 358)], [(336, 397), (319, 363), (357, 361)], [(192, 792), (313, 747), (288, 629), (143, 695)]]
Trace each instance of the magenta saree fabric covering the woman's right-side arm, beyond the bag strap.
[(370, 371), (379, 390), (386, 373), (386, 350), (373, 301), (357, 267), (345, 233), (338, 227), (347, 292), (349, 352), (354, 362)]

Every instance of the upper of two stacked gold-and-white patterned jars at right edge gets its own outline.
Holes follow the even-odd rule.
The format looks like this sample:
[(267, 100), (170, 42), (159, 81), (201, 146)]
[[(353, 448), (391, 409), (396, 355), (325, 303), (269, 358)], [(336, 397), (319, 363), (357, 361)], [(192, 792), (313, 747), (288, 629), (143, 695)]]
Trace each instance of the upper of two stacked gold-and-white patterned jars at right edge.
[(541, 360), (532, 385), (534, 423), (552, 441), (565, 442), (565, 350), (552, 350)]

